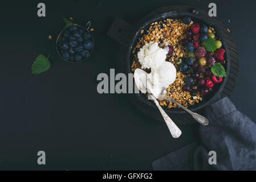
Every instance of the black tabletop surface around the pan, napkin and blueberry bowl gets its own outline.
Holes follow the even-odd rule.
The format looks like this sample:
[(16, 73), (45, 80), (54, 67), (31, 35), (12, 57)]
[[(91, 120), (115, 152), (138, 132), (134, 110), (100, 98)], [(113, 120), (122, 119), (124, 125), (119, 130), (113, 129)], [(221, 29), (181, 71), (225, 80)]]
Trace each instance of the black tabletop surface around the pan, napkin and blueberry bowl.
[[(106, 35), (116, 16), (133, 24), (162, 6), (208, 11), (212, 1), (44, 1), (46, 18), (37, 16), (39, 2), (9, 1), (0, 7), (0, 169), (150, 170), (153, 160), (199, 139), (197, 124), (179, 125), (183, 134), (173, 139), (164, 123), (141, 114), (123, 95), (98, 94), (96, 76), (117, 68), (119, 44)], [(256, 121), (256, 3), (214, 2), (217, 19), (230, 29), (239, 51), (230, 98)], [(63, 16), (79, 24), (92, 19), (95, 51), (82, 64), (56, 55)], [(52, 54), (52, 68), (34, 76), (31, 64), (40, 53)], [(40, 150), (46, 152), (46, 166), (37, 164)]]

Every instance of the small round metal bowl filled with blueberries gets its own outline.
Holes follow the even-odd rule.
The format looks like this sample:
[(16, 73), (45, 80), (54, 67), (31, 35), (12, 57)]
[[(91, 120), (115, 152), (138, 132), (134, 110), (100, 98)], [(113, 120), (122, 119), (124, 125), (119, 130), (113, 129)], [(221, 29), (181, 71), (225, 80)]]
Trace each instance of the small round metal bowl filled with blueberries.
[(68, 63), (81, 63), (90, 57), (94, 49), (94, 38), (89, 31), (91, 21), (86, 28), (71, 26), (60, 32), (56, 49), (59, 56)]

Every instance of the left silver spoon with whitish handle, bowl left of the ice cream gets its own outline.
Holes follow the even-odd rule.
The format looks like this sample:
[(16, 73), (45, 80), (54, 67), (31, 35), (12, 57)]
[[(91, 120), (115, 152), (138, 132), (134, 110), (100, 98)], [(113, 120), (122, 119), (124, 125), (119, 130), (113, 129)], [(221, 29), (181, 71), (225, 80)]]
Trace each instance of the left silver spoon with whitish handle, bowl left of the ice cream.
[[(135, 78), (135, 84), (137, 88), (142, 92), (142, 93), (149, 93), (149, 99), (152, 99), (155, 101), (155, 104), (157, 108), (159, 109), (160, 113), (162, 114), (162, 117), (164, 118), (164, 121), (166, 125), (168, 126), (168, 129), (170, 131), (170, 134), (172, 135), (173, 138), (178, 138), (181, 135), (181, 130), (175, 125), (175, 123), (170, 119), (170, 117), (165, 113), (164, 109), (159, 105), (159, 102), (156, 100), (156, 97), (151, 94), (150, 88), (145, 86), (143, 83), (148, 83), (149, 80), (147, 80), (148, 73), (143, 71), (142, 69), (136, 69), (134, 73), (134, 78)], [(148, 85), (148, 84), (147, 84)], [(149, 82), (149, 85), (151, 83)]]

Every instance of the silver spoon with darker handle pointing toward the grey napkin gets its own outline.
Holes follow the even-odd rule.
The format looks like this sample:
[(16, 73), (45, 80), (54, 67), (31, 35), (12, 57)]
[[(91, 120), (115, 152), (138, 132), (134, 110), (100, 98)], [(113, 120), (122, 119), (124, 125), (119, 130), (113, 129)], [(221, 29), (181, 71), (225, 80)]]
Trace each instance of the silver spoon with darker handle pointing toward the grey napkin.
[(167, 100), (167, 101), (171, 101), (174, 102), (175, 104), (177, 104), (178, 106), (180, 106), (182, 109), (184, 109), (185, 111), (187, 111), (189, 114), (192, 115), (192, 117), (194, 119), (196, 119), (196, 121), (198, 123), (200, 123), (201, 125), (208, 125), (209, 124), (209, 120), (205, 117), (203, 117), (200, 114), (194, 113), (191, 110), (187, 109), (186, 107), (182, 106), (180, 103), (178, 103), (176, 100), (174, 100), (172, 97), (167, 95), (167, 92), (165, 90), (165, 88), (161, 88), (161, 89), (154, 89), (154, 87), (151, 89), (152, 94), (158, 98), (159, 100)]

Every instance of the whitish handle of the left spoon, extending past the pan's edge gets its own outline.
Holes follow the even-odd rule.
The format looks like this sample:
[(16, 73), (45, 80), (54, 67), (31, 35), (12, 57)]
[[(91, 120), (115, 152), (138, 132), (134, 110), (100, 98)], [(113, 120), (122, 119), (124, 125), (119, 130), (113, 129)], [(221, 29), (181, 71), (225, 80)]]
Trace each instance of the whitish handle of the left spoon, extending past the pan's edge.
[(155, 101), (156, 106), (160, 110), (160, 113), (162, 114), (162, 117), (164, 118), (164, 121), (166, 125), (169, 128), (170, 134), (173, 138), (178, 138), (181, 135), (181, 130), (178, 128), (177, 125), (170, 119), (170, 117), (165, 113), (164, 109), (159, 105), (159, 102), (156, 100), (156, 97), (151, 95), (152, 99)]

